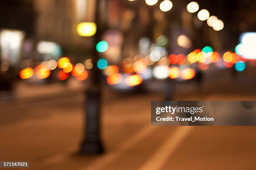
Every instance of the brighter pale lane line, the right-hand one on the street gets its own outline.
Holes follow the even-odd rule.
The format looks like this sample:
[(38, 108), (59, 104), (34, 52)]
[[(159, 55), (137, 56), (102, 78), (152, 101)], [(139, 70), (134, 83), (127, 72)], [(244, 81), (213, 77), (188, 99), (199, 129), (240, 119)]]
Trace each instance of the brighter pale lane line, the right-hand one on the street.
[(151, 156), (151, 158), (139, 168), (139, 170), (160, 170), (168, 159), (174, 154), (182, 141), (186, 138), (193, 126), (179, 126)]

